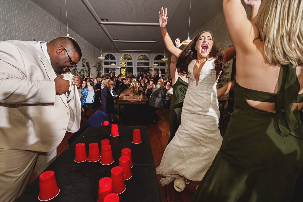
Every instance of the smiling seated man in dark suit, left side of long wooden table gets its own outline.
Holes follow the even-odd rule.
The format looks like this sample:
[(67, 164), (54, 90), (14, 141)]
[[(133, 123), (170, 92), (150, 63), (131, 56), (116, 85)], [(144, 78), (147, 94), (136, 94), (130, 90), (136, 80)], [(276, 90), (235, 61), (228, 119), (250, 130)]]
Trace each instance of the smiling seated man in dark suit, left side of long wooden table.
[(107, 86), (101, 91), (102, 108), (107, 114), (115, 114), (115, 111), (118, 111), (118, 104), (114, 104), (114, 101), (120, 99), (120, 95), (113, 88), (114, 82), (109, 80)]

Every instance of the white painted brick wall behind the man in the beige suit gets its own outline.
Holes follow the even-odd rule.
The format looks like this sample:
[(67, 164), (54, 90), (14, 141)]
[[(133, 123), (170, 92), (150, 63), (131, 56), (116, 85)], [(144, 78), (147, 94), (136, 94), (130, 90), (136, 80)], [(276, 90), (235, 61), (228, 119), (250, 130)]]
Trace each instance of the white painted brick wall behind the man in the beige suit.
[[(94, 46), (71, 29), (68, 32), (72, 38), (75, 38), (82, 50), (81, 59), (85, 58), (89, 61), (92, 76), (96, 76), (96, 69), (92, 67), (98, 60), (94, 58)], [(66, 36), (66, 34), (65, 25), (32, 1), (0, 0), (0, 41), (34, 41), (34, 39), (51, 41), (57, 37)], [(97, 48), (95, 48), (95, 55), (96, 57), (101, 55), (101, 51)], [(78, 66), (82, 68), (81, 60)]]

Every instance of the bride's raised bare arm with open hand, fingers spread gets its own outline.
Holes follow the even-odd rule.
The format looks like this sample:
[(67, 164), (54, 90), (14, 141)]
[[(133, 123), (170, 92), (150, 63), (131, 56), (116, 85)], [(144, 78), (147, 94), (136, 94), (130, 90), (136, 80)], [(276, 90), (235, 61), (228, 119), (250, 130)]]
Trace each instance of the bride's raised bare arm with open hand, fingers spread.
[(167, 25), (167, 8), (165, 8), (165, 12), (163, 7), (161, 8), (161, 13), (159, 12), (159, 26), (161, 28), (161, 33), (163, 37), (163, 41), (167, 50), (174, 55), (176, 58), (179, 58), (180, 53), (182, 52), (179, 48), (174, 46), (174, 43), (171, 41), (170, 36), (167, 33), (166, 25)]

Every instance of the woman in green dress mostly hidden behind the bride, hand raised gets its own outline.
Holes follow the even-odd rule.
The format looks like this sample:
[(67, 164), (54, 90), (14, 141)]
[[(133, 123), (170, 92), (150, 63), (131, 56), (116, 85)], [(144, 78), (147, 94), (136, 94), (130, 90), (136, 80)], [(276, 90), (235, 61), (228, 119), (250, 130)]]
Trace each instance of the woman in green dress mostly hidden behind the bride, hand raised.
[[(180, 48), (182, 45), (180, 43), (180, 38), (175, 40), (175, 44), (177, 48)], [(176, 60), (177, 58), (172, 55), (171, 56), (171, 80), (172, 80), (172, 89), (173, 89), (173, 96), (171, 100), (171, 106), (169, 111), (169, 126), (170, 126), (170, 135), (168, 139), (168, 143), (175, 137), (176, 131), (181, 124), (181, 112), (183, 107), (183, 101), (185, 98), (185, 94), (188, 88), (188, 78), (186, 74), (180, 72), (178, 74), (176, 68)]]

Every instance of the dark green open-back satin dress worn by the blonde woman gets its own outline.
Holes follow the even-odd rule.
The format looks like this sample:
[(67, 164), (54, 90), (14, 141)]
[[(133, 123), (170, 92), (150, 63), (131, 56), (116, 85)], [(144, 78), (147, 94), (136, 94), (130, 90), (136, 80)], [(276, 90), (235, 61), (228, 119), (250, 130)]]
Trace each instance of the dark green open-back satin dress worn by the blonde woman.
[[(298, 108), (291, 110), (303, 102), (295, 68), (281, 66), (277, 94), (236, 81), (234, 90), (234, 112), (221, 148), (191, 201), (290, 201), (303, 165), (303, 125)], [(246, 100), (274, 102), (277, 113)]]

